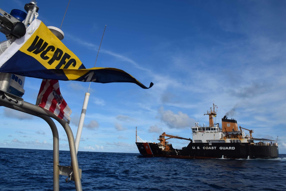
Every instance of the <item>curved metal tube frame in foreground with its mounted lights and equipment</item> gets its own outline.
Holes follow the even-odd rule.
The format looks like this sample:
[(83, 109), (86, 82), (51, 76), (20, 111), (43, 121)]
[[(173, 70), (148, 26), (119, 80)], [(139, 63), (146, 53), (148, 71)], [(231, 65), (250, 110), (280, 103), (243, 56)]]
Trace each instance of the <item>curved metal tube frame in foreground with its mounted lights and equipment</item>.
[[(13, 9), (10, 13), (0, 9), (0, 32), (6, 36), (5, 41), (0, 42), (0, 55), (17, 39), (26, 34), (26, 29), (34, 18), (38, 17), (37, 1), (32, 0), (25, 4), (24, 11)], [(48, 27), (59, 40), (64, 37), (63, 32), (57, 27)], [(68, 176), (75, 182), (76, 190), (82, 190), (81, 169), (78, 167), (77, 148), (75, 145), (74, 135), (69, 124), (55, 116), (52, 112), (38, 107), (34, 104), (25, 102), (22, 99), (24, 90), (25, 77), (0, 73), (0, 106), (18, 110), (30, 115), (34, 115), (45, 120), (51, 127), (53, 133), (53, 190), (59, 190), (59, 175)], [(87, 103), (86, 103), (87, 104)], [(69, 149), (71, 154), (71, 166), (59, 165), (59, 134), (53, 120), (58, 121), (67, 134)], [(77, 145), (78, 146), (78, 145)]]

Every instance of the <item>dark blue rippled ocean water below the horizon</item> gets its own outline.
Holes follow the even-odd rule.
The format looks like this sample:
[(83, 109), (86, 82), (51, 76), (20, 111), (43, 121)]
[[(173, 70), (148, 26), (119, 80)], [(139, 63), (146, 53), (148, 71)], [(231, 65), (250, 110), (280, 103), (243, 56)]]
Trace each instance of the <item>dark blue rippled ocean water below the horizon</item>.
[[(60, 151), (69, 166), (69, 151)], [(286, 154), (277, 159), (144, 158), (78, 152), (83, 190), (286, 190)], [(53, 151), (0, 148), (0, 190), (53, 190)], [(59, 177), (60, 190), (75, 190)]]

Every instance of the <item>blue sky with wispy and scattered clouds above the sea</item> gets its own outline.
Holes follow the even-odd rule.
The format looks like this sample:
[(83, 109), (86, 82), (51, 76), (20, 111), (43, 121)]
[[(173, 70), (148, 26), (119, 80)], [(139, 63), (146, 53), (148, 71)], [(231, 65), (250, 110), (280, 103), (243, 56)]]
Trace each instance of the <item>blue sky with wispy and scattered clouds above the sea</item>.
[[(37, 1), (38, 19), (60, 27), (68, 0)], [(24, 11), (29, 1), (2, 2)], [(167, 134), (192, 138), (195, 122), (218, 106), (217, 123), (230, 112), (253, 137), (277, 139), (286, 153), (285, 1), (73, 1), (62, 42), (86, 68), (122, 69), (145, 86), (92, 83), (79, 151), (138, 153), (143, 141)], [(2, 40), (6, 40), (2, 35)], [(23, 99), (35, 104), (40, 79), (26, 78)], [(72, 109), (76, 137), (89, 83), (60, 81)], [(49, 126), (37, 117), (0, 107), (0, 147), (53, 149)], [(67, 136), (56, 122), (60, 150)], [(170, 139), (175, 148), (188, 141)]]

